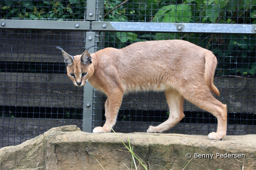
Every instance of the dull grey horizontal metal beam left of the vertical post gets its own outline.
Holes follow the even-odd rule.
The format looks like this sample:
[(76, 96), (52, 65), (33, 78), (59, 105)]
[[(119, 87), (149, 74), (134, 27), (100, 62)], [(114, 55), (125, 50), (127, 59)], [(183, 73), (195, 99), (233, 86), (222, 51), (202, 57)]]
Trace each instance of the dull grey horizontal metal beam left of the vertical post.
[(0, 28), (90, 30), (89, 21), (44, 21), (0, 19)]

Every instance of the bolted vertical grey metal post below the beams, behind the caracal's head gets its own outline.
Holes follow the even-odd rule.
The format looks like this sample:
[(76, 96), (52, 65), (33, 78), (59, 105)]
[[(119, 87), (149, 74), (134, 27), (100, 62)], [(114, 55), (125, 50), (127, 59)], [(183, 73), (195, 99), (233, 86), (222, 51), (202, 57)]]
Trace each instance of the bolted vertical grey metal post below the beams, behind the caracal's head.
[[(86, 48), (95, 45), (95, 33), (86, 33)], [(88, 50), (94, 53), (95, 48)], [(83, 130), (84, 132), (92, 132), (92, 103), (93, 103), (93, 87), (89, 82), (84, 86), (84, 106), (83, 106)]]

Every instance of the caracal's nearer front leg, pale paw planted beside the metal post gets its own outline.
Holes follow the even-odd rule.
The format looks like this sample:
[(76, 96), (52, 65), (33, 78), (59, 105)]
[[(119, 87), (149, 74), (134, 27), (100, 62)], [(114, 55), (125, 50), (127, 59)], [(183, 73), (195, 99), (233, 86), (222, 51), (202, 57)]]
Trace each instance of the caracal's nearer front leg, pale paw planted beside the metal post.
[[(105, 103), (105, 117), (106, 122), (103, 125), (103, 127), (96, 127), (94, 128), (94, 133), (104, 133), (104, 132), (110, 132), (111, 128), (116, 124), (117, 119), (117, 113), (121, 106), (123, 99), (123, 92), (121, 90), (114, 91), (111, 95), (107, 98), (107, 104)], [(107, 106), (107, 108), (106, 108)]]

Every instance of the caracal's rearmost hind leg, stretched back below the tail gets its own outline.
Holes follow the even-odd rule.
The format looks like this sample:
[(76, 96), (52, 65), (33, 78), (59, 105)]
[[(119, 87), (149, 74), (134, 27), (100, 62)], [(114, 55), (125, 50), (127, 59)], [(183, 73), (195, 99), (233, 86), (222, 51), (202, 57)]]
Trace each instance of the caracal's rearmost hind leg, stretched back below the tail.
[(227, 126), (227, 110), (226, 104), (222, 104), (218, 101), (211, 92), (205, 88), (194, 89), (198, 92), (197, 94), (192, 94), (190, 92), (185, 92), (184, 97), (195, 104), (199, 108), (212, 113), (218, 120), (217, 132), (212, 132), (208, 135), (209, 139), (222, 140), (226, 136), (226, 126)]

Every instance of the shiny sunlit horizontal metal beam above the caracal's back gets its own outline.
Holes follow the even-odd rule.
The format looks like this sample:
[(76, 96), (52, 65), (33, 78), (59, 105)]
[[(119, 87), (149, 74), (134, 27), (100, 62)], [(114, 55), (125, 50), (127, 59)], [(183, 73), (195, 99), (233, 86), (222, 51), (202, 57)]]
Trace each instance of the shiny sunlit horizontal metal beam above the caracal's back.
[(183, 32), (183, 33), (256, 33), (253, 24), (204, 24), (204, 23), (142, 23), (142, 22), (92, 22), (92, 30)]

